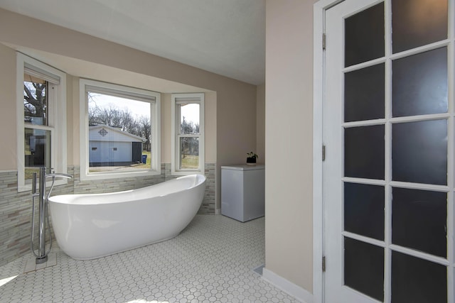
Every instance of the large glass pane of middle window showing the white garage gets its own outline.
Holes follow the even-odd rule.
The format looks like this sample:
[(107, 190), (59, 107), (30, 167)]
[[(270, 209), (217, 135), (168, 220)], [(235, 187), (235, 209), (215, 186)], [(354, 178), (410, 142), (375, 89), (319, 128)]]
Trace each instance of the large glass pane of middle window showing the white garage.
[(90, 172), (151, 168), (151, 104), (118, 94), (87, 92)]

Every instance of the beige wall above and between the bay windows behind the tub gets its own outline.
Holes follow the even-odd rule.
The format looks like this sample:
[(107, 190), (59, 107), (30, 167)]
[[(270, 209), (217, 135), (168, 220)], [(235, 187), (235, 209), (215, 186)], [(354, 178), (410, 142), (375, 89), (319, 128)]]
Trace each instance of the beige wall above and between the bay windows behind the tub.
[[(156, 77), (173, 83), (185, 84), (188, 87), (200, 87), (205, 92), (210, 92), (206, 96), (208, 96), (209, 100), (216, 99), (216, 104), (210, 103), (207, 106), (206, 112), (208, 111), (208, 116), (206, 121), (208, 121), (210, 128), (206, 124), (206, 135), (214, 138), (215, 146), (210, 146), (209, 143), (209, 148), (206, 149), (206, 160), (208, 162), (217, 162), (216, 192), (217, 207), (218, 209), (220, 208), (220, 165), (243, 163), (245, 162), (246, 153), (256, 148), (255, 85), (215, 75), (195, 67), (166, 60), (162, 57), (3, 9), (0, 9), (0, 28), (8, 28), (8, 31), (0, 31), (0, 43), (15, 45), (14, 47), (19, 49), (28, 49), (28, 54), (35, 52), (40, 55), (43, 53), (52, 54), (58, 60), (66, 60), (68, 58), (70, 60), (79, 60), (83, 63), (90, 62), (94, 70), (99, 67), (109, 67), (115, 71), (131, 72), (133, 76)], [(31, 28), (33, 28), (33, 31), (31, 31)], [(43, 38), (42, 34), (36, 35), (35, 33), (47, 33), (47, 35)], [(5, 98), (5, 94), (10, 96), (9, 99), (14, 98), (15, 95), (15, 92), (11, 90), (11, 87), (16, 85), (14, 80), (11, 80), (11, 75), (14, 75), (16, 70), (16, 60), (11, 57), (12, 54), (11, 49), (6, 48), (5, 50), (2, 47), (0, 62), (5, 61), (5, 64), (2, 64), (0, 77), (7, 80), (7, 82), (0, 84), (5, 86), (5, 90), (2, 89), (2, 98)], [(55, 59), (55, 62), (58, 62), (57, 59)], [(59, 67), (58, 65), (54, 66)], [(73, 87), (74, 84), (73, 79)], [(73, 103), (68, 104), (68, 109), (73, 110), (73, 113), (76, 114), (79, 109), (78, 101), (74, 97), (78, 94), (78, 90), (73, 89), (73, 92), (68, 92), (68, 94), (73, 96), (73, 100), (75, 100), (74, 102), (72, 101)], [(2, 103), (2, 106), (5, 106), (5, 104)], [(1, 112), (2, 118), (6, 118), (1, 119), (1, 123), (8, 126), (2, 128), (4, 134), (1, 135), (1, 139), (2, 142), (9, 143), (7, 146), (11, 146), (11, 151), (9, 151), (11, 156), (8, 158), (9, 160), (0, 160), (0, 170), (16, 169), (16, 134), (15, 132), (6, 133), (5, 131), (11, 128), (11, 125), (16, 125), (16, 115), (11, 115), (15, 108), (11, 103), (6, 104), (6, 106), (11, 107), (11, 111), (8, 114), (4, 114), (5, 111)], [(71, 156), (73, 159), (69, 158), (68, 163), (77, 164), (79, 161), (78, 119), (75, 119), (75, 116), (68, 116), (68, 120), (71, 119), (73, 119), (73, 124), (68, 125), (68, 136), (73, 138), (68, 138), (68, 141), (73, 140), (73, 142), (68, 143), (68, 148), (71, 149), (68, 155), (71, 156), (71, 153), (73, 153)], [(166, 121), (163, 121), (163, 123), (166, 123)], [(215, 126), (213, 126), (213, 123), (215, 123)], [(165, 137), (164, 142), (167, 142), (167, 140), (168, 137)], [(170, 157), (166, 147), (164, 147), (164, 153), (161, 157), (164, 160)]]

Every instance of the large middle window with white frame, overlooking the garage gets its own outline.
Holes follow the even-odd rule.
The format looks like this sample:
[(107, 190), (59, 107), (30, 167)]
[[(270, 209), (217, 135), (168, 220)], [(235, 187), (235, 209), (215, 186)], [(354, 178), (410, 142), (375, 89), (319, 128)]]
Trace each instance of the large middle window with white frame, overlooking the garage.
[(81, 180), (161, 174), (160, 96), (80, 79)]

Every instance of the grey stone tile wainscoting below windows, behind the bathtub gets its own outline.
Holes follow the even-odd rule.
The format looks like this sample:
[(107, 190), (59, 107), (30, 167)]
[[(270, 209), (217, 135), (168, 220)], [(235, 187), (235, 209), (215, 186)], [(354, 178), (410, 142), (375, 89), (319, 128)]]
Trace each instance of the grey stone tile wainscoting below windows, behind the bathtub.
[[(215, 163), (205, 164), (205, 197), (198, 214), (215, 214)], [(117, 192), (171, 180), (171, 164), (161, 164), (161, 175), (110, 180), (80, 180), (80, 167), (68, 167), (73, 179), (56, 186), (52, 195)], [(0, 266), (30, 253), (31, 192), (17, 191), (17, 172), (0, 171)]]

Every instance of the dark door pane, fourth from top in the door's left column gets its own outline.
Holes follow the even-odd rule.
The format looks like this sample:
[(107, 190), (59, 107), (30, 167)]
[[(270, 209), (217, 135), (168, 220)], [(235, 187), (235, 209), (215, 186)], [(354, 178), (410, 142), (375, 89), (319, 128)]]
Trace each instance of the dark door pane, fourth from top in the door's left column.
[(344, 230), (384, 240), (384, 187), (344, 184)]

